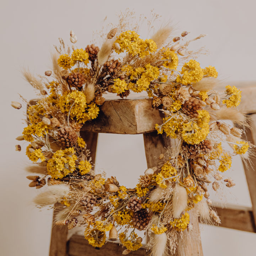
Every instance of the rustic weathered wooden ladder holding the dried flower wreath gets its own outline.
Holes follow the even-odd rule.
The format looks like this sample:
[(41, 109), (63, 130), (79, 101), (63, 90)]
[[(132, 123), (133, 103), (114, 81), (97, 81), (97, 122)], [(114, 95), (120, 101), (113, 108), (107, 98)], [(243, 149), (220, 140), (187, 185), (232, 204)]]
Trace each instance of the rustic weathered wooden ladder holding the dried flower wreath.
[[(236, 84), (233, 83), (232, 85)], [(236, 86), (241, 88), (241, 86)], [(245, 84), (242, 87), (240, 109), (246, 109), (247, 113), (250, 113), (252, 130), (246, 130), (246, 137), (247, 140), (256, 145), (256, 101), (254, 102), (254, 95), (256, 95), (256, 89), (252, 87), (252, 83)], [(80, 131), (81, 137), (91, 150), (92, 162), (95, 162), (98, 133), (116, 133), (143, 134), (147, 165), (150, 168), (158, 164), (160, 160), (156, 156), (165, 152), (166, 146), (170, 146), (170, 140), (167, 140), (162, 135), (157, 135), (155, 131), (155, 124), (162, 122), (162, 114), (152, 108), (151, 101), (151, 99), (105, 101), (101, 106), (99, 116), (94, 121), (86, 123)], [(253, 167), (256, 164), (256, 160), (251, 159), (251, 161), (252, 164), (248, 166), (244, 164), (244, 169), (249, 186), (252, 209), (242, 207), (222, 209), (221, 207), (215, 207), (222, 222), (219, 226), (256, 233), (256, 172)], [(193, 230), (190, 235), (187, 234), (186, 230), (183, 231), (183, 239), (178, 239), (176, 256), (203, 255), (201, 240), (199, 239), (198, 218), (193, 213), (193, 210), (190, 211), (190, 219), (193, 224)], [(116, 243), (107, 242), (98, 250), (90, 246), (83, 236), (73, 235), (67, 241), (67, 235), (67, 226), (56, 226), (53, 222), (50, 256), (121, 255), (125, 249)], [(129, 255), (145, 255), (145, 250), (132, 251)]]

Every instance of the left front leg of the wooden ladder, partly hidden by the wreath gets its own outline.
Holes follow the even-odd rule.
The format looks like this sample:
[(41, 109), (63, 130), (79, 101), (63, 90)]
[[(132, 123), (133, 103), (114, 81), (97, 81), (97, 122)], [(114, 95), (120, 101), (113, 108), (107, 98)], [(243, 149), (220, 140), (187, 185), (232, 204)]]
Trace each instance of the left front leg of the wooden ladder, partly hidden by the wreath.
[[(97, 147), (97, 139), (98, 133), (90, 133), (90, 132), (81, 132), (81, 137), (86, 142), (87, 148), (91, 151), (92, 162), (95, 162), (96, 157), (96, 147)], [(52, 222), (52, 234), (50, 238), (50, 249), (49, 256), (67, 256), (67, 237), (68, 237), (68, 226), (57, 226), (55, 225), (55, 215), (58, 212), (58, 207), (60, 204), (57, 203), (56, 207), (54, 207), (53, 212), (53, 222)]]

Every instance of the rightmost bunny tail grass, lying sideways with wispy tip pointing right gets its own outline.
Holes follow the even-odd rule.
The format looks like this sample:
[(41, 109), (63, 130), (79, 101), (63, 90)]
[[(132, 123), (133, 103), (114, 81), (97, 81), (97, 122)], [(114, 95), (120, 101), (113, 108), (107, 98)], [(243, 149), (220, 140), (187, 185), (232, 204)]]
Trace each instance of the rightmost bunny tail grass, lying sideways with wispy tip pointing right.
[(222, 107), (215, 112), (217, 119), (231, 120), (239, 126), (250, 127), (247, 116), (237, 110), (237, 108)]

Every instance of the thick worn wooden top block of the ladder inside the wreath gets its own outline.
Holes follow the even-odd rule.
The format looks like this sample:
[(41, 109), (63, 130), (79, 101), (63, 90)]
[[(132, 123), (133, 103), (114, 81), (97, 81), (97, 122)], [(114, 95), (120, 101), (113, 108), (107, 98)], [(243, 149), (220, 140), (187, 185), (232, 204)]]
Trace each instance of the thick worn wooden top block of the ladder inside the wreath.
[(105, 101), (98, 117), (86, 122), (81, 131), (140, 134), (153, 131), (162, 117), (158, 109), (152, 108), (152, 99)]

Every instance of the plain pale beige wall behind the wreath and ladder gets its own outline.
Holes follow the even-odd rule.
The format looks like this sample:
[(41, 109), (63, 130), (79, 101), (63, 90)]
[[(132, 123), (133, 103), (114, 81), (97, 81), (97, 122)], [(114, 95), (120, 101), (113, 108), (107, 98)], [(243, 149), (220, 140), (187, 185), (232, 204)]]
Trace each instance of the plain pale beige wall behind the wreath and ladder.
[[(28, 187), (24, 166), (30, 164), (22, 151), (15, 151), (15, 138), (25, 126), (25, 107), (11, 108), (18, 93), (34, 98), (30, 85), (22, 79), (22, 67), (30, 67), (43, 75), (50, 67), (50, 51), (58, 45), (58, 37), (69, 43), (72, 29), (78, 37), (78, 47), (90, 43), (95, 30), (102, 28), (105, 16), (117, 21), (117, 15), (127, 7), (137, 14), (149, 15), (150, 10), (162, 16), (162, 21), (177, 24), (177, 35), (186, 30), (190, 38), (208, 34), (197, 46), (206, 46), (207, 56), (199, 57), (201, 66), (213, 65), (226, 80), (256, 80), (255, 72), (255, 4), (251, 0), (215, 1), (67, 1), (23, 0), (0, 3), (1, 26), (1, 177), (0, 177), (0, 254), (2, 256), (48, 255), (52, 210), (37, 209), (31, 203), (38, 193)], [(160, 23), (157, 23), (160, 25)], [(107, 32), (107, 31), (106, 31)], [(150, 36), (145, 35), (145, 36)], [(116, 175), (121, 184), (134, 186), (146, 169), (141, 135), (100, 134), (96, 169)], [(229, 174), (227, 174), (229, 175)], [(251, 207), (241, 162), (236, 159), (230, 176), (237, 184), (223, 192), (226, 197), (212, 197)], [(222, 191), (221, 191), (222, 192)], [(220, 193), (219, 193), (220, 194)], [(220, 198), (220, 199), (218, 199)], [(256, 235), (220, 227), (202, 226), (205, 256), (255, 255)]]

